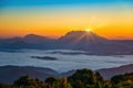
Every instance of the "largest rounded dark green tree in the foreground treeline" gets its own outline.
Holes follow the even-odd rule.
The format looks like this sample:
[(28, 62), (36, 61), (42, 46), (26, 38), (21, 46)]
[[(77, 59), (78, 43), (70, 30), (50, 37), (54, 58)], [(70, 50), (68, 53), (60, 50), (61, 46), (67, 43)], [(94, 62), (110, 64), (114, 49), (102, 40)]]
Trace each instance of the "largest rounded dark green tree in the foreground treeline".
[(96, 82), (93, 72), (85, 68), (78, 69), (75, 74), (69, 77), (69, 81), (73, 88), (88, 88)]

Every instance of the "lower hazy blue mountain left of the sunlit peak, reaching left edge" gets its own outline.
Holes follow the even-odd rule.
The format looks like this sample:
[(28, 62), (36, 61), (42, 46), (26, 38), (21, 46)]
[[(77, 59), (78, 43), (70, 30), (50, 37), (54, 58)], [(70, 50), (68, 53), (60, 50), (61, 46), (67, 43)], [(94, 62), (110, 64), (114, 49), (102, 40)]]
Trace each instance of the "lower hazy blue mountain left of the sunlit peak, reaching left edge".
[(0, 40), (0, 48), (1, 51), (20, 48), (48, 50), (52, 47), (51, 44), (53, 44), (53, 38), (47, 36), (28, 34), (24, 37)]

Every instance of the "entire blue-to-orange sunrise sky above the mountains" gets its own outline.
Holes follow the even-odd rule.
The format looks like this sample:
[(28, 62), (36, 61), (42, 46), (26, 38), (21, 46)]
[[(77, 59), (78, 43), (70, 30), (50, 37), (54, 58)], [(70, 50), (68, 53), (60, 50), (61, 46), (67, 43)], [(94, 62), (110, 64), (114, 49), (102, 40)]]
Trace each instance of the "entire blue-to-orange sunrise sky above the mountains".
[(2, 38), (89, 29), (106, 38), (133, 38), (133, 0), (0, 0)]

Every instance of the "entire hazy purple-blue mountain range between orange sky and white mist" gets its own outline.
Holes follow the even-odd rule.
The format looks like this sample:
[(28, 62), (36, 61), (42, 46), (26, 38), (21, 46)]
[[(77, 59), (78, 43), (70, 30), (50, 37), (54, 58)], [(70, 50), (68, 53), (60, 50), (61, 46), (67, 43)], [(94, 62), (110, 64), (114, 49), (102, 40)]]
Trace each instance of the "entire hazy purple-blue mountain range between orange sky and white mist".
[(24, 37), (0, 40), (0, 51), (21, 48), (85, 51), (90, 55), (132, 55), (133, 40), (108, 40), (86, 31), (71, 31), (59, 38), (28, 34)]

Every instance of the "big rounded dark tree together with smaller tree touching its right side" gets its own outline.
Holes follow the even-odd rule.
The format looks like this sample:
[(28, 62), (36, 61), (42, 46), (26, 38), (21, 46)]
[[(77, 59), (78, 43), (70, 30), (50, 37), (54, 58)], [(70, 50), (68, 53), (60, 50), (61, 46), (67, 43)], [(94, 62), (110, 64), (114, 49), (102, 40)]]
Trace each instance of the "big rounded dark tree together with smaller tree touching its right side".
[[(99, 80), (99, 78), (101, 78)], [(90, 69), (78, 69), (75, 74), (69, 77), (69, 81), (73, 88), (101, 88), (103, 86), (101, 75), (94, 74)]]

